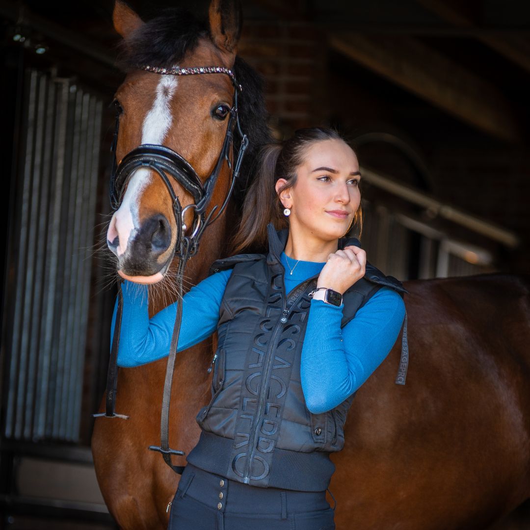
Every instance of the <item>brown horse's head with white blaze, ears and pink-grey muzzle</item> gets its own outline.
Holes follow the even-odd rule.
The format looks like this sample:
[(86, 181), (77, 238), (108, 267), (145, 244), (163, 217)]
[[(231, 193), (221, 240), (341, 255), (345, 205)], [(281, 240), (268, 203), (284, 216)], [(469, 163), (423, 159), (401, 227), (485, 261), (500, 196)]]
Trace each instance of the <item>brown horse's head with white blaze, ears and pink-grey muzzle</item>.
[[(235, 88), (233, 78), (222, 72), (234, 66), (240, 7), (237, 2), (213, 0), (208, 27), (185, 12), (167, 12), (144, 23), (117, 0), (113, 21), (124, 39), (122, 57), (128, 74), (115, 98), (120, 112), (116, 158), (123, 163), (118, 167), (119, 207), (107, 240), (118, 258), (118, 273), (151, 284), (163, 278), (181, 235), (197, 227), (194, 207), (186, 206), (199, 200), (197, 188), (217, 166), (225, 145)], [(174, 66), (184, 74), (188, 68), (205, 66), (220, 67), (220, 72), (160, 75), (148, 71)], [(145, 144), (178, 153), (182, 158), (176, 159), (176, 175), (161, 171), (156, 163), (149, 165), (149, 153), (144, 157), (140, 153), (139, 162), (131, 163), (120, 180), (127, 154)], [(160, 148), (159, 153), (164, 157)], [(170, 164), (175, 161), (169, 158)], [(220, 207), (228, 193), (231, 170), (224, 158), (219, 166), (206, 214), (214, 205)], [(186, 185), (186, 175), (191, 184)], [(175, 197), (178, 209), (174, 209)]]

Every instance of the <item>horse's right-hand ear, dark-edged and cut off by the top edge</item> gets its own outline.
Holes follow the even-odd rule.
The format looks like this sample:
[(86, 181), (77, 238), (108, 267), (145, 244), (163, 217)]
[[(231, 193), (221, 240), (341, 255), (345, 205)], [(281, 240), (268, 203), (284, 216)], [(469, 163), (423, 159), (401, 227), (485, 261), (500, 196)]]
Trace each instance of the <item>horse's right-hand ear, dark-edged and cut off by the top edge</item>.
[(211, 40), (217, 48), (235, 53), (241, 36), (243, 16), (239, 0), (211, 0), (209, 9)]

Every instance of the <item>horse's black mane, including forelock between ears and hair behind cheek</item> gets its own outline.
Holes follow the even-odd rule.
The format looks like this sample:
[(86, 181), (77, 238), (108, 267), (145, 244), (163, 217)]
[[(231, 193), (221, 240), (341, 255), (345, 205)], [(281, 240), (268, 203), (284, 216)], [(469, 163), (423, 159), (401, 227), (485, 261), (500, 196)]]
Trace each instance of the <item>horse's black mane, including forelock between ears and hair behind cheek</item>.
[[(162, 14), (140, 26), (122, 41), (118, 65), (126, 72), (139, 64), (171, 67), (178, 64), (187, 52), (192, 52), (199, 39), (208, 37), (208, 34), (208, 23), (205, 19), (200, 19), (180, 7), (163, 10)], [(241, 207), (245, 192), (256, 174), (257, 151), (272, 139), (267, 126), (268, 113), (263, 98), (261, 76), (241, 57), (236, 57), (234, 74), (243, 87), (238, 96), (238, 110), (241, 128), (249, 138), (241, 176), (235, 184), (233, 195), (235, 204)], [(238, 135), (235, 135), (234, 146), (238, 151)]]

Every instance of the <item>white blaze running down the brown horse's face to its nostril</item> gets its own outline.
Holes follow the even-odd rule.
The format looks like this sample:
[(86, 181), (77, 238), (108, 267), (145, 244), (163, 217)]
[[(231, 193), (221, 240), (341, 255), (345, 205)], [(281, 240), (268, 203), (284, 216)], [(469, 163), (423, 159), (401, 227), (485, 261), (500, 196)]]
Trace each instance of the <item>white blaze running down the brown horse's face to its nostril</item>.
[[(175, 76), (162, 75), (160, 77), (153, 106), (144, 118), (142, 144), (164, 145), (166, 135), (173, 123), (171, 100), (177, 85), (178, 78)], [(117, 246), (109, 245), (118, 258), (127, 252), (128, 242), (138, 232), (140, 226), (138, 211), (142, 193), (151, 183), (152, 178), (154, 177), (149, 170), (144, 168), (136, 170), (127, 184), (120, 207), (112, 217), (107, 240), (112, 243), (118, 238)]]

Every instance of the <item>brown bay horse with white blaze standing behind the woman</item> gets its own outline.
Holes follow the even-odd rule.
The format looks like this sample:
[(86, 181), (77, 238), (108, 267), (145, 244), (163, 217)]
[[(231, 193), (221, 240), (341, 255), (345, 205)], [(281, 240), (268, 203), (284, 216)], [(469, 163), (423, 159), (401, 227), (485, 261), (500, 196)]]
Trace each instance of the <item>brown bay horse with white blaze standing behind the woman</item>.
[[(123, 109), (117, 160), (141, 143), (163, 143), (206, 178), (226, 129), (222, 116), (210, 120), (233, 98), (228, 76), (173, 82), (135, 66), (221, 65), (233, 68), (243, 87), (241, 121), (251, 146), (242, 175), (251, 180), (253, 157), (269, 131), (259, 82), (235, 55), (240, 9), (235, 2), (213, 0), (207, 25), (176, 13), (144, 23), (116, 2), (114, 27), (123, 37), (130, 68), (116, 95)], [(216, 204), (226, 195), (228, 181), (225, 167), (216, 184)], [(183, 205), (191, 204), (187, 191), (172, 186)], [(167, 266), (176, 224), (166, 187), (154, 172), (139, 170), (109, 226), (111, 250), (122, 247), (117, 263), (122, 276), (144, 282), (162, 277), (150, 287), (151, 314), (174, 299)], [(232, 214), (206, 229), (186, 269), (190, 283), (204, 278), (209, 264), (229, 251), (236, 206), (237, 201)], [(153, 250), (146, 252), (146, 246)], [(398, 341), (359, 388), (348, 413), (345, 447), (332, 456), (335, 524), (340, 530), (485, 528), (530, 497), (530, 280), (491, 274), (408, 281), (405, 287), (407, 381), (394, 384), (402, 361)], [(199, 436), (195, 415), (209, 400), (213, 341), (179, 352), (176, 359), (170, 441), (186, 453)], [(147, 451), (160, 439), (164, 368), (162, 360), (120, 370), (116, 408), (129, 419), (95, 421), (96, 476), (121, 528), (165, 528), (169, 520), (179, 475)], [(174, 460), (185, 463), (182, 457)]]

